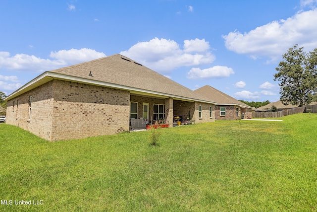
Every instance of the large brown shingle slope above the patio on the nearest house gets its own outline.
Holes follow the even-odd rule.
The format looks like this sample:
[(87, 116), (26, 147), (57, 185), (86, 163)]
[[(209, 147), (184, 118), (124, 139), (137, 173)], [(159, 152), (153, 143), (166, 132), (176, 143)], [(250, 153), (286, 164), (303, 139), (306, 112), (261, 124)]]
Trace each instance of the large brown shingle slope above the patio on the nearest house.
[(205, 96), (119, 54), (48, 72), (211, 102)]

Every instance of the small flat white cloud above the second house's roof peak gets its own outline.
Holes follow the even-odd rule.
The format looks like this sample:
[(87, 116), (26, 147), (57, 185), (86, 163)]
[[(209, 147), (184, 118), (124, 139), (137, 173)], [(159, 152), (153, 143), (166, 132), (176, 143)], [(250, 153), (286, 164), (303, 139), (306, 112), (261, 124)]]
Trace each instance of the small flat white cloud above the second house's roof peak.
[(187, 78), (189, 79), (204, 79), (204, 78), (222, 78), (229, 77), (234, 74), (231, 68), (225, 66), (214, 66), (209, 69), (192, 68), (187, 73)]

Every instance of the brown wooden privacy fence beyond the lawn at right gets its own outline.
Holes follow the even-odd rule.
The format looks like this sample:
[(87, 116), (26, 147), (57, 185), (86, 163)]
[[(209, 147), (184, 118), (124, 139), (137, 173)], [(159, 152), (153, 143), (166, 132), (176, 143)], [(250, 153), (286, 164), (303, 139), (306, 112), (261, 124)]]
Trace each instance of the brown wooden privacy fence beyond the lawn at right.
[[(314, 110), (317, 111), (317, 105), (312, 105), (312, 106), (316, 106)], [(306, 111), (306, 107), (310, 107), (310, 106), (297, 107), (297, 108), (292, 108), (292, 109), (282, 110), (277, 112), (253, 112), (252, 118), (278, 118), (278, 117), (293, 115), (297, 113), (304, 113)], [(311, 113), (313, 113), (313, 109), (311, 109)]]

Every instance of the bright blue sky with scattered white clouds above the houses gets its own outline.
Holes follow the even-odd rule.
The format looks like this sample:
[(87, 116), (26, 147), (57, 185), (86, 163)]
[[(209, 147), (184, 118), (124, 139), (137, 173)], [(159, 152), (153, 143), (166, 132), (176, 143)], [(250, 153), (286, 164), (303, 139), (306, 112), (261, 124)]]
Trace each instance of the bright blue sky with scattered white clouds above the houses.
[[(190, 88), (275, 102), (295, 44), (317, 48), (317, 0), (0, 0), (0, 91), (122, 54)], [(154, 86), (155, 82), (153, 82)]]

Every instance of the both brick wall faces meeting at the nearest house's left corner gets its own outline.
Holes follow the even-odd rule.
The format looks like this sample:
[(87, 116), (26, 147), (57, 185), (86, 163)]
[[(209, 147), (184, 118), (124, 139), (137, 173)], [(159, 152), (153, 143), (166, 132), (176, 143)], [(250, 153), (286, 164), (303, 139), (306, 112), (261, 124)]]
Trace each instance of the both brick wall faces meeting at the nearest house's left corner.
[(52, 80), (9, 100), (6, 123), (57, 141), (129, 131), (129, 117), (129, 91)]

